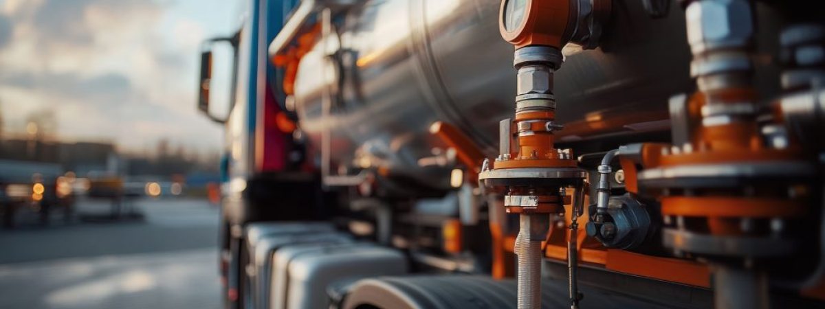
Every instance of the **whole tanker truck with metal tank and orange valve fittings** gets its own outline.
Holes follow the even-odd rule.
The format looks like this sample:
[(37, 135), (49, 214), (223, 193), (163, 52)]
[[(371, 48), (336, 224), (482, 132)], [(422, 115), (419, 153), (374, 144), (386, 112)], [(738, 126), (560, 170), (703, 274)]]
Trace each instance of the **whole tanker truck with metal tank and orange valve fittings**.
[(825, 306), (812, 2), (239, 7), (225, 307)]

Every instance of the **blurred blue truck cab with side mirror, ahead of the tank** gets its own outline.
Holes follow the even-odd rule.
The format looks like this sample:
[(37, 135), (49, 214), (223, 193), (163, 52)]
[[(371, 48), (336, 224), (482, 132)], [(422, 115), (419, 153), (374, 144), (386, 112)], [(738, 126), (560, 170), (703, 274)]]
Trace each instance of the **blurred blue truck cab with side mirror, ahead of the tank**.
[[(226, 307), (241, 308), (246, 283), (242, 271), (247, 252), (244, 227), (257, 221), (318, 220), (328, 216), (321, 208), (318, 175), (308, 168), (301, 138), (279, 127), (295, 115), (283, 108), (280, 87), (283, 68), (267, 56), (267, 44), (281, 30), (297, 0), (238, 1), (238, 29), (228, 36), (206, 40), (201, 51), (198, 108), (224, 125), (221, 160), (220, 275)], [(233, 50), (229, 97), (210, 99), (213, 83), (213, 49), (220, 44)], [(225, 48), (225, 46), (223, 46)], [(226, 64), (226, 63), (223, 63)], [(219, 72), (216, 72), (219, 73)], [(227, 100), (227, 102), (215, 102)], [(223, 103), (229, 112), (214, 113)], [(210, 108), (210, 105), (212, 107)]]

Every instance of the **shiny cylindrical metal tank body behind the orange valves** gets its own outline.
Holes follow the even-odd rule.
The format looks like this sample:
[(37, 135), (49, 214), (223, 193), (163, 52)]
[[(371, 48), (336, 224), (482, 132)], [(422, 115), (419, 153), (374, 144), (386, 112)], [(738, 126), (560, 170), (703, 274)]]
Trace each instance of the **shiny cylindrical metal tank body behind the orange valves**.
[[(557, 120), (566, 124), (559, 142), (667, 133), (668, 98), (694, 84), (684, 12), (674, 2), (666, 16), (651, 16), (642, 2), (613, 2), (600, 48), (563, 50), (554, 77)], [(452, 164), (428, 133), (436, 120), (495, 157), (498, 122), (512, 117), (516, 95), (513, 48), (497, 26), (500, 3), (375, 0), (349, 10), (335, 35), (301, 60), (301, 128), (316, 146), (327, 130), (339, 167), (385, 167), (433, 187), (448, 184), (439, 176)]]

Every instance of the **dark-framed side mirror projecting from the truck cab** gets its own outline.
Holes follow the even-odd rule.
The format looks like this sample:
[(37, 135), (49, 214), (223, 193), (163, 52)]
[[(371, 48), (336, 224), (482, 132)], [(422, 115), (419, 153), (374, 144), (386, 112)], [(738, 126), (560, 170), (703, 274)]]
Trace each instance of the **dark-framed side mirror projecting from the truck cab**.
[(198, 110), (220, 124), (229, 118), (234, 97), (237, 37), (206, 40), (200, 51)]

